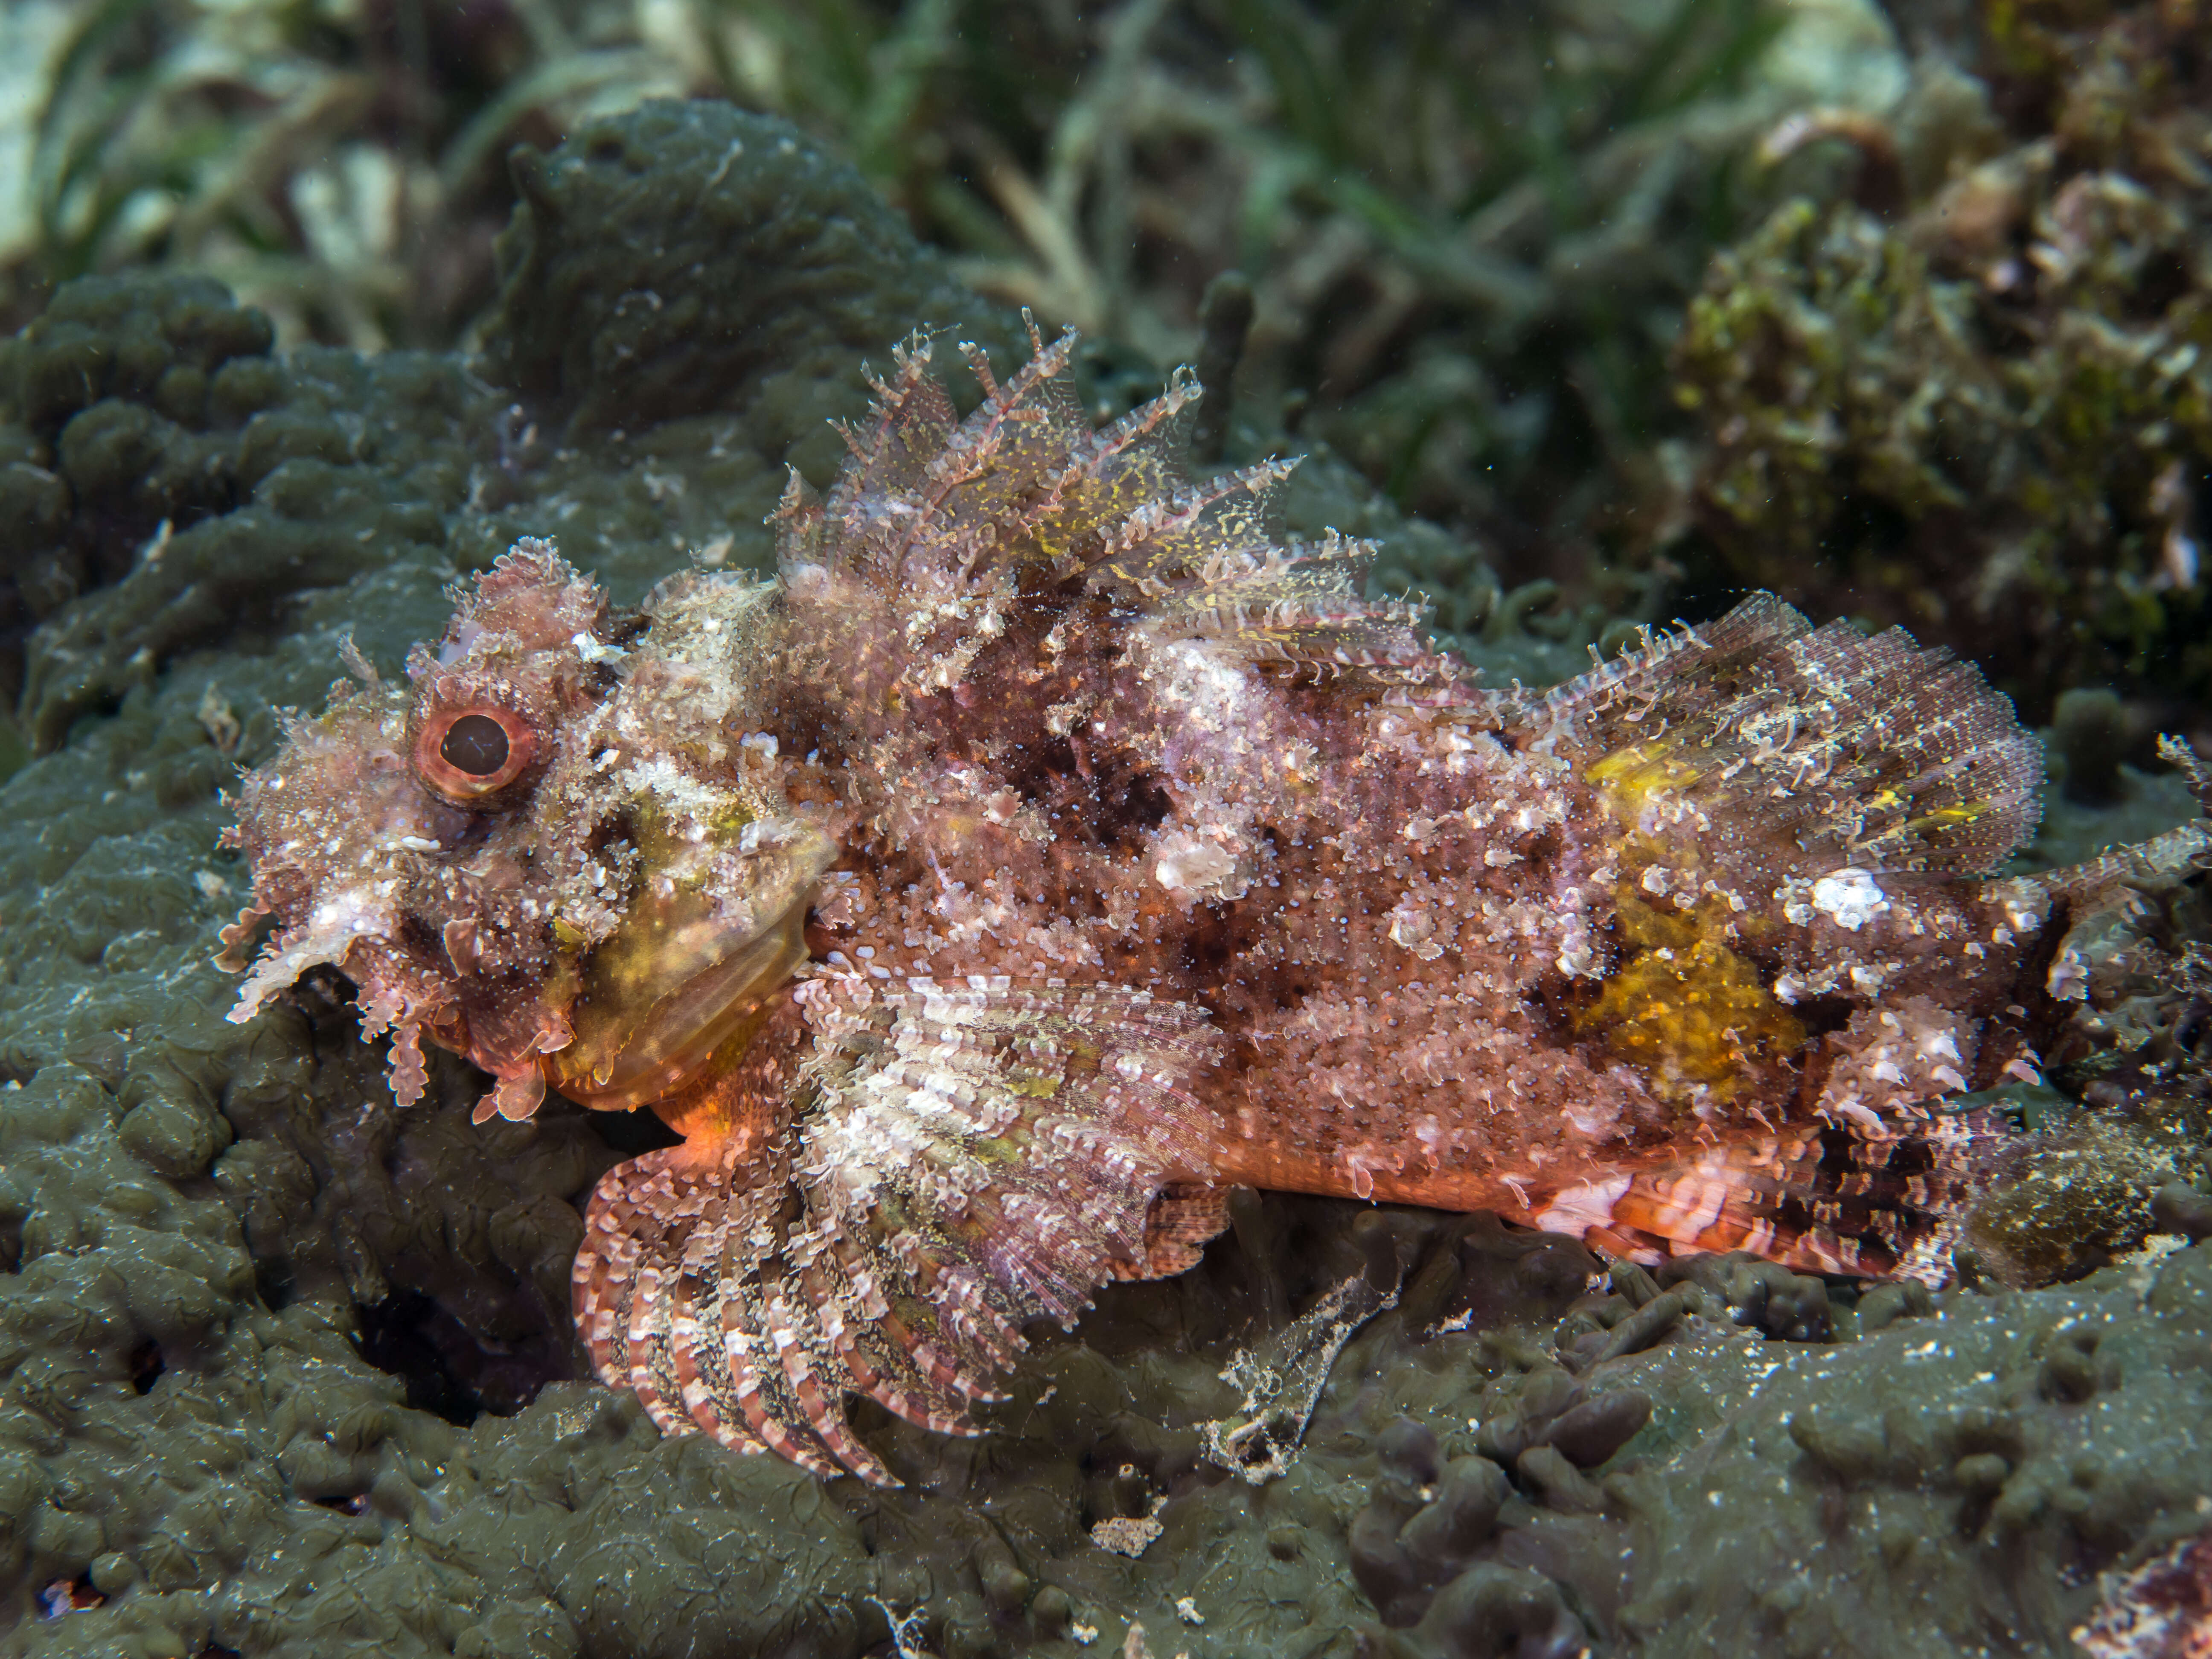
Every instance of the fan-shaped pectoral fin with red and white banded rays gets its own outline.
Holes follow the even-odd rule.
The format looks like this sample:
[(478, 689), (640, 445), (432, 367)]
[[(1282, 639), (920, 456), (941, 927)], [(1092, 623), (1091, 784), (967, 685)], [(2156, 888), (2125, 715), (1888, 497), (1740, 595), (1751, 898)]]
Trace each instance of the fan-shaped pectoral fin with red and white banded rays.
[(599, 1181), (575, 1316), (664, 1431), (896, 1484), (847, 1394), (973, 1433), (1026, 1321), (1179, 1272), (1221, 1230), (1188, 1093), (1217, 1037), (1115, 987), (821, 987), (807, 1006), (776, 1144), (697, 1133)]

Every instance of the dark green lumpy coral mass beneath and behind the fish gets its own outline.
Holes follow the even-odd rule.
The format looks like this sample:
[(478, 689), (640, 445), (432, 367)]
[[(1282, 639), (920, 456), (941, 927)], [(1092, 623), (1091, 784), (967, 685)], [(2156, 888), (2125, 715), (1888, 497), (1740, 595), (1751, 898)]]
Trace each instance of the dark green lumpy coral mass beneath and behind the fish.
[[(858, 1409), (896, 1493), (661, 1440), (573, 1380), (575, 1206), (630, 1130), (560, 1106), (473, 1130), (445, 1055), (396, 1110), (334, 980), (226, 1024), (208, 960), (243, 883), (217, 792), (274, 710), (319, 703), (341, 639), (396, 668), (511, 535), (557, 535), (628, 597), (690, 553), (757, 568), (781, 467), (830, 465), (807, 422), (863, 405), (860, 356), (916, 305), (982, 341), (1011, 321), (759, 117), (648, 108), (529, 166), (551, 206), (511, 234), (473, 365), (279, 356), (159, 279), (64, 290), (9, 347), (7, 442), (64, 491), (42, 546), (108, 562), (22, 635), (49, 752), (0, 785), (4, 1650), (1068, 1657), (1144, 1626), (1192, 1659), (2057, 1655), (2099, 1566), (2201, 1524), (2203, 1250), (1938, 1303), (1747, 1261), (1608, 1274), (1486, 1217), (1239, 1197), (1201, 1267), (1040, 1329), (991, 1436)], [(688, 316), (734, 341), (692, 363), (655, 321), (690, 263), (641, 288), (611, 250), (681, 226), (708, 179), (754, 230), (690, 254)], [(812, 263), (832, 221), (889, 241)], [(723, 239), (745, 252), (714, 265)], [(204, 407), (159, 396), (206, 372), (179, 307), (237, 347)], [(164, 345), (135, 378), (69, 378), (124, 336)], [(250, 462), (261, 416), (279, 436)], [(142, 471), (73, 473), (84, 418), (139, 434), (117, 453)], [(159, 493), (188, 451), (228, 495)], [(1340, 465), (1298, 478), (1296, 529), (1489, 582)], [(142, 557), (155, 509), (170, 540)], [(1210, 1464), (1223, 1369), (1360, 1274), (1400, 1301), (1340, 1352), (1287, 1473)], [(1095, 1533), (1117, 1520), (1161, 1531), (1124, 1555)]]

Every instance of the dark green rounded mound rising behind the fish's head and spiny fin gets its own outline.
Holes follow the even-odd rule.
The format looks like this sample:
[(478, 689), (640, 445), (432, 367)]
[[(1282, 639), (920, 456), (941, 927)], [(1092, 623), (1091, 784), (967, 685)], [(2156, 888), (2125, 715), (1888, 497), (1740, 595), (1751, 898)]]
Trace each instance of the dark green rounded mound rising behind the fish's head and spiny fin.
[(918, 325), (1018, 349), (1004, 310), (785, 122), (646, 104), (511, 166), (484, 369), (571, 434), (743, 409), (757, 449), (834, 467), (827, 422), (872, 352)]

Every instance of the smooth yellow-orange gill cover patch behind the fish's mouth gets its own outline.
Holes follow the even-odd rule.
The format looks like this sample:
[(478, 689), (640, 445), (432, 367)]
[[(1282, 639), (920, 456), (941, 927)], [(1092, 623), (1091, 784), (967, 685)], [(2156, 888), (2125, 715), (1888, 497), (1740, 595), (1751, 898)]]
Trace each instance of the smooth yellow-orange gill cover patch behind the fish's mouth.
[(626, 1113), (732, 1064), (807, 960), (807, 909), (832, 858), (827, 836), (810, 832), (765, 858), (737, 905), (684, 880), (644, 883), (584, 964), (575, 1035), (540, 1057), (546, 1084)]

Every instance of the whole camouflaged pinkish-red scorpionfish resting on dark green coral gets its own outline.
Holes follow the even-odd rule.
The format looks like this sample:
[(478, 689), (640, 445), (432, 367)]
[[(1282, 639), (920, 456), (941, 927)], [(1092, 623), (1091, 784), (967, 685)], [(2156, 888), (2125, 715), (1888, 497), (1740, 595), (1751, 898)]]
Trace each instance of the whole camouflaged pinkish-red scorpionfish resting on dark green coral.
[[(1991, 880), (2039, 752), (1982, 677), (1772, 597), (1484, 690), (1367, 549), (1285, 546), (1287, 462), (1192, 482), (1197, 385), (1093, 431), (1071, 338), (958, 420), (916, 341), (779, 577), (613, 608), (544, 542), (407, 684), (246, 776), (274, 929), (392, 1086), (422, 1042), (650, 1106), (575, 1261), (666, 1431), (889, 1482), (1037, 1316), (1175, 1274), (1248, 1183), (1655, 1261), (1940, 1272), (2112, 869)], [(243, 960), (232, 960), (243, 967)]]

